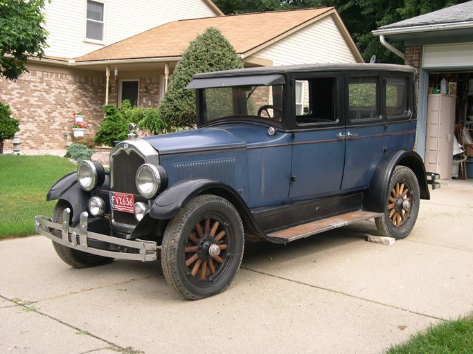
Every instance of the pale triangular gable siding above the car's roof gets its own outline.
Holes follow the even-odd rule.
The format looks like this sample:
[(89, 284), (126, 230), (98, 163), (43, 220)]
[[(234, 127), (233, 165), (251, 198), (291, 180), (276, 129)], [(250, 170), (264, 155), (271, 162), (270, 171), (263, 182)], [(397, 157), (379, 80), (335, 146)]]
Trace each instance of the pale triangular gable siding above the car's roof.
[(274, 66), (357, 62), (332, 17), (325, 17), (260, 50), (254, 56), (271, 60)]

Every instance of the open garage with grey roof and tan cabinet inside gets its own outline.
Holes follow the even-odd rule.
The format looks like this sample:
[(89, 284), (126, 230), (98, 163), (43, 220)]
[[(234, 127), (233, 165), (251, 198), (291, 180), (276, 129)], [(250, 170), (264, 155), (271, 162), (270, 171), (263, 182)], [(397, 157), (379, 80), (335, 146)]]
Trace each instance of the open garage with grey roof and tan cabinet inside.
[[(473, 178), (473, 1), (373, 31), (418, 69), (416, 151), (441, 178)], [(400, 52), (389, 41), (404, 42)], [(459, 145), (457, 145), (457, 142)]]

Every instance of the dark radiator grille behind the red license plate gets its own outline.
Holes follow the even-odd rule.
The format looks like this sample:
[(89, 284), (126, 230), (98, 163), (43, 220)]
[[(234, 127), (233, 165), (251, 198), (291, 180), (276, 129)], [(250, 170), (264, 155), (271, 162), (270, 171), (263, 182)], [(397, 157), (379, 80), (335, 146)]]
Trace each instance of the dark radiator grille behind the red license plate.
[[(135, 201), (140, 201), (142, 198), (138, 189), (136, 189), (135, 175), (136, 170), (138, 170), (143, 163), (145, 163), (144, 158), (135, 151), (126, 153), (125, 150), (122, 150), (113, 156), (113, 161), (111, 161), (110, 164), (110, 175), (112, 180), (111, 189), (114, 192), (134, 194)], [(116, 210), (112, 212), (112, 218), (116, 223), (127, 225), (136, 225), (138, 223), (134, 214), (117, 212)]]

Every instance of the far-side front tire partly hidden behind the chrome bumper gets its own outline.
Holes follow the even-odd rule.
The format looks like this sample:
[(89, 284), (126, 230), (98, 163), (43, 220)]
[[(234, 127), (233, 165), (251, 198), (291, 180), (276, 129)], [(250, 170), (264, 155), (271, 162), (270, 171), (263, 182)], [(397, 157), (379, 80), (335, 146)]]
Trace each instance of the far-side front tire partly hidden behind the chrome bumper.
[[(62, 223), (62, 212), (64, 209), (71, 209), (70, 217), (72, 219), (72, 208), (66, 201), (57, 201), (53, 210), (53, 221), (55, 223)], [(69, 221), (71, 223), (71, 221)], [(55, 231), (57, 236), (61, 236), (60, 231)], [(61, 245), (53, 241), (53, 247), (57, 255), (64, 261), (64, 263), (71, 265), (73, 268), (89, 268), (96, 265), (107, 264), (113, 261), (113, 258), (97, 256), (96, 254), (89, 254), (73, 250), (67, 246)]]

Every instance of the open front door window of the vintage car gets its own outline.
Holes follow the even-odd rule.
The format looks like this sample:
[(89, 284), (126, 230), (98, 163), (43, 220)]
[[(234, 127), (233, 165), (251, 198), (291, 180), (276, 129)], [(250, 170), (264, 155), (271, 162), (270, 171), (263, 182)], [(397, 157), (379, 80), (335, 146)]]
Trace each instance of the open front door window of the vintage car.
[(337, 77), (296, 80), (294, 87), (297, 124), (337, 122)]

